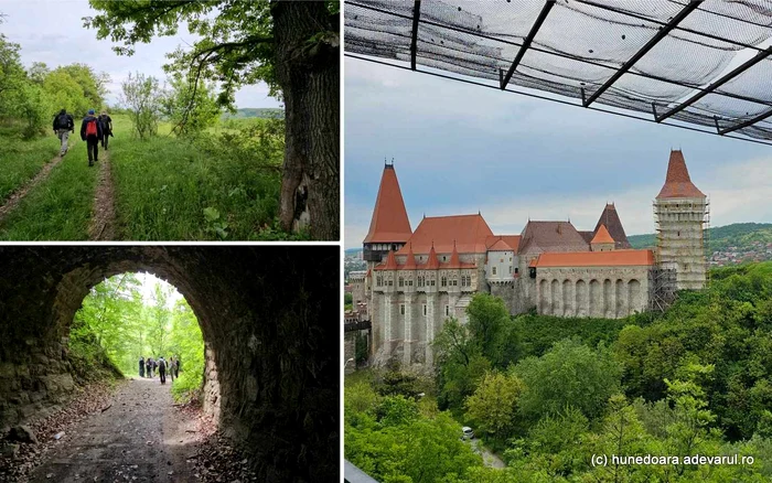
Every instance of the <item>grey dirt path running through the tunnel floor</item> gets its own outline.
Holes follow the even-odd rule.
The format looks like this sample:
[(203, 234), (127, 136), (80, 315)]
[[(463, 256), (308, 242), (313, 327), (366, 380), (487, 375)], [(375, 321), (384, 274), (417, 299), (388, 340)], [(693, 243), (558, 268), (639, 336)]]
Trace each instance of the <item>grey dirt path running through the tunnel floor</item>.
[[(132, 379), (66, 433), (32, 473), (32, 482), (194, 481), (195, 420), (176, 410), (165, 385)], [(191, 460), (189, 462), (189, 460)]]

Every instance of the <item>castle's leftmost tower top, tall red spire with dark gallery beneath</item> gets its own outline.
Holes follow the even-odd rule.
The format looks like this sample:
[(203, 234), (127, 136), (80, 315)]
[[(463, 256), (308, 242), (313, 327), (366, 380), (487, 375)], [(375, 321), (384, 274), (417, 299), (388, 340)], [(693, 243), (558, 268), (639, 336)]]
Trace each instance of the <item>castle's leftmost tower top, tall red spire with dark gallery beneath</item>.
[(405, 246), (410, 235), (410, 221), (407, 217), (394, 163), (386, 164), (380, 176), (369, 232), (363, 242), (363, 256), (368, 268), (379, 264), (389, 250), (397, 251)]

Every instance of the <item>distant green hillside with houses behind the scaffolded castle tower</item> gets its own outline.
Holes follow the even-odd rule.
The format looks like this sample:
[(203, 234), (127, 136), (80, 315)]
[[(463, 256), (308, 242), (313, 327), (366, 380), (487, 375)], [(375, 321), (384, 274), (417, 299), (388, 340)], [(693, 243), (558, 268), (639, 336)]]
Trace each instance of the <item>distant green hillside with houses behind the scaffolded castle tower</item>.
[[(633, 248), (653, 248), (656, 236), (631, 235)], [(712, 250), (714, 265), (747, 260), (772, 260), (772, 223), (735, 223), (717, 226), (708, 232), (708, 246)]]

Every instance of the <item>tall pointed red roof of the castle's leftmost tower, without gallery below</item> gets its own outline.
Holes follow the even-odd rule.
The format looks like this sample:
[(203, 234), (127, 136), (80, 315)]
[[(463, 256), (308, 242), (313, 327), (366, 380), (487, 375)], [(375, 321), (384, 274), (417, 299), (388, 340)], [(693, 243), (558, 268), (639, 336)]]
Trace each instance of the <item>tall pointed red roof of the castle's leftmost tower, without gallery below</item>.
[(364, 243), (405, 243), (411, 233), (397, 173), (394, 165), (386, 164)]

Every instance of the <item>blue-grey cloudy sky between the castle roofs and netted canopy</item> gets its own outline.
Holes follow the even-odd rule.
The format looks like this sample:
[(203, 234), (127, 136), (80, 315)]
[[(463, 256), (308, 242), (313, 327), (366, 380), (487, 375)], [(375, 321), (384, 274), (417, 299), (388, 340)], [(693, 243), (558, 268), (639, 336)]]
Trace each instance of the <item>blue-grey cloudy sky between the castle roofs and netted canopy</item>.
[(671, 149), (710, 197), (711, 225), (772, 222), (772, 148), (345, 60), (345, 247), (362, 246), (384, 158), (415, 229), (480, 211), (496, 234), (532, 219), (592, 229), (614, 202), (652, 233)]

